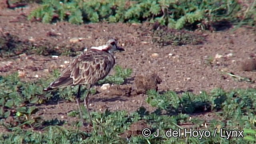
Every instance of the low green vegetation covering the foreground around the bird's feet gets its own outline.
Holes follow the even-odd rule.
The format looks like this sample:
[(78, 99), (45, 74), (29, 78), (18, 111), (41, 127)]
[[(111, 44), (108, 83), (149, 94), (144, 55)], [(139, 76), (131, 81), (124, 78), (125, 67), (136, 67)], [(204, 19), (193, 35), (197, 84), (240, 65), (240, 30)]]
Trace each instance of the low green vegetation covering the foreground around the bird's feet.
[[(131, 69), (116, 66), (115, 74), (105, 78), (101, 83), (122, 84), (130, 77), (131, 72)], [(53, 78), (38, 82), (22, 82), (17, 74), (0, 77), (0, 122), (6, 130), (11, 131), (0, 134), (0, 143), (254, 144), (256, 142), (255, 89), (236, 89), (226, 92), (218, 88), (210, 93), (203, 91), (199, 95), (191, 92), (176, 94), (173, 91), (160, 93), (149, 90), (146, 102), (155, 107), (155, 111), (149, 112), (146, 108), (140, 107), (131, 113), (124, 110), (92, 112), (94, 127), (90, 132), (84, 132), (77, 129), (80, 127), (79, 118), (71, 128), (67, 128), (64, 127), (68, 123), (65, 120), (44, 120), (37, 114), (38, 106), (42, 104), (52, 103), (54, 100), (74, 100), (76, 87), (42, 92), (42, 89), (58, 74), (58, 71), (54, 71)], [(198, 117), (197, 114), (203, 116)], [(69, 112), (68, 116), (78, 116), (78, 110)], [(87, 118), (87, 114), (84, 114), (84, 118)], [(142, 136), (143, 128), (151, 130), (149, 137)], [(181, 137), (166, 136), (165, 132), (170, 128), (180, 129)], [(183, 135), (185, 129), (190, 131), (189, 128), (201, 132), (207, 130), (211, 135), (202, 138), (185, 137)], [(158, 130), (162, 137), (153, 136)], [(244, 130), (242, 133), (244, 137), (232, 136), (227, 140), (225, 137), (227, 133), (224, 133), (226, 130)]]

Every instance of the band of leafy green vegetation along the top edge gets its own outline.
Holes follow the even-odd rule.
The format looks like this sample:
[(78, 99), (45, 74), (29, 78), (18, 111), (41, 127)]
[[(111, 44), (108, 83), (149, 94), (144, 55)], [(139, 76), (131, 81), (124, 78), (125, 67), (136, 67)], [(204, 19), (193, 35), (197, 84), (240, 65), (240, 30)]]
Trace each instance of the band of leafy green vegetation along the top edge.
[(255, 0), (248, 8), (245, 4), (237, 0), (43, 0), (28, 19), (72, 24), (150, 21), (175, 29), (208, 29), (215, 22), (255, 25)]

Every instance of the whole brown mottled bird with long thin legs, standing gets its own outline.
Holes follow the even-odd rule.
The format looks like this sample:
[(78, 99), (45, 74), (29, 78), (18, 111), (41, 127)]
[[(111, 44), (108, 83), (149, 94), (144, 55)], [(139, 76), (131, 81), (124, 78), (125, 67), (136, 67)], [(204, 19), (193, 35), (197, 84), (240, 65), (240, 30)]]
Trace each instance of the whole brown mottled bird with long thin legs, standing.
[(80, 106), (80, 89), (82, 86), (86, 86), (86, 90), (88, 92), (84, 97), (84, 106), (87, 109), (90, 120), (88, 125), (92, 126), (92, 118), (88, 108), (90, 88), (99, 80), (104, 79), (114, 67), (116, 62), (114, 58), (114, 51), (116, 50), (125, 51), (124, 48), (117, 46), (117, 40), (115, 38), (110, 38), (106, 44), (102, 46), (91, 47), (74, 58), (61, 72), (60, 76), (51, 82), (47, 88), (44, 88), (44, 91), (78, 85), (76, 102), (78, 104), (81, 123), (85, 125)]

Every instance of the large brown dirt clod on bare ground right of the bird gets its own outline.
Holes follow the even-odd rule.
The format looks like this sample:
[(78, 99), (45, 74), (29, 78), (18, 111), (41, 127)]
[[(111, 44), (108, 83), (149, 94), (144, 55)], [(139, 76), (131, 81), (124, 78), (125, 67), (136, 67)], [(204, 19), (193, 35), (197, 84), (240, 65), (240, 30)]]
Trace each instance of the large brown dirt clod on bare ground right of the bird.
[(162, 82), (162, 79), (159, 78), (157, 74), (148, 74), (146, 76), (139, 75), (136, 76), (134, 80), (137, 90), (137, 94), (146, 94), (148, 90), (154, 89), (158, 90), (157, 84), (160, 84)]

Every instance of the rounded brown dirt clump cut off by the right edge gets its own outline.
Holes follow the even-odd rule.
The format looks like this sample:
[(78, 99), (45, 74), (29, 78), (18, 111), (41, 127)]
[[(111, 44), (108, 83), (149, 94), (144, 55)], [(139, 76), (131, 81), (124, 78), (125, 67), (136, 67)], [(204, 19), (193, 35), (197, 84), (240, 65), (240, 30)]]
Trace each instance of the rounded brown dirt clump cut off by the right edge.
[(241, 69), (243, 71), (253, 71), (256, 70), (256, 60), (254, 58), (254, 54), (252, 54), (249, 58), (245, 59), (241, 63)]

